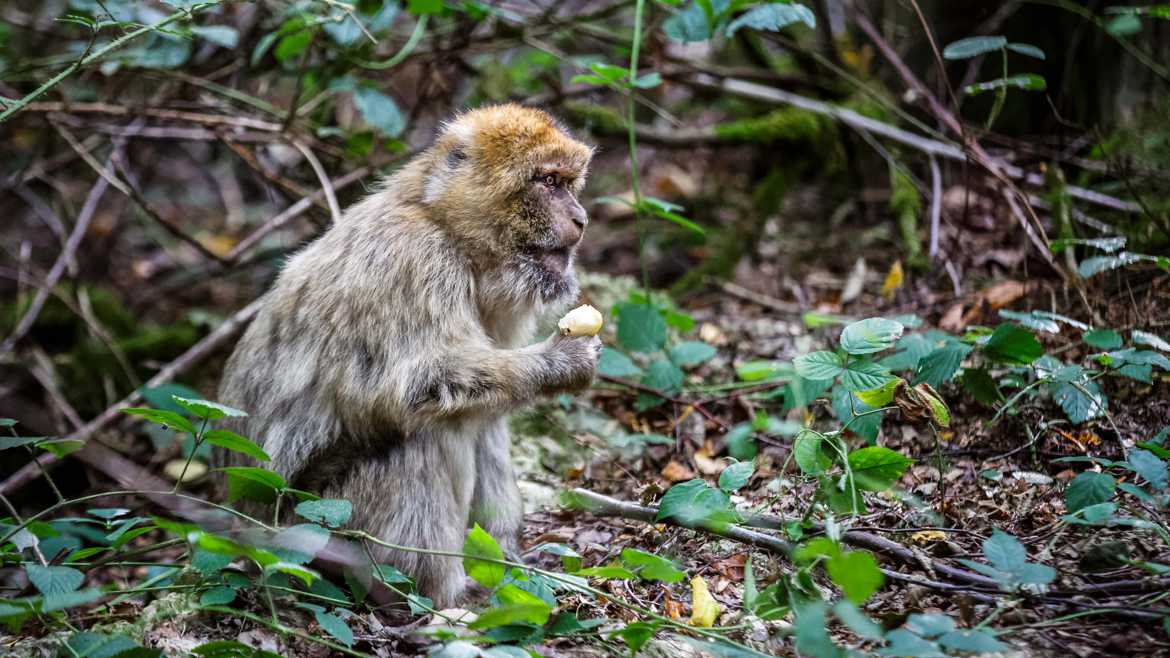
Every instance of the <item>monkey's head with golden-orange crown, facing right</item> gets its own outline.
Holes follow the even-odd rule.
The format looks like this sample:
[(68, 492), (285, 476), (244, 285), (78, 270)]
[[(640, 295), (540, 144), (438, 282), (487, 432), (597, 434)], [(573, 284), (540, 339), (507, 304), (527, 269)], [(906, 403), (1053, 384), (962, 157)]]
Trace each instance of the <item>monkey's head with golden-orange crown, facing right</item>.
[(593, 150), (549, 114), (472, 110), (425, 156), (422, 203), (445, 229), (542, 301), (576, 295), (573, 258), (589, 218), (577, 200)]

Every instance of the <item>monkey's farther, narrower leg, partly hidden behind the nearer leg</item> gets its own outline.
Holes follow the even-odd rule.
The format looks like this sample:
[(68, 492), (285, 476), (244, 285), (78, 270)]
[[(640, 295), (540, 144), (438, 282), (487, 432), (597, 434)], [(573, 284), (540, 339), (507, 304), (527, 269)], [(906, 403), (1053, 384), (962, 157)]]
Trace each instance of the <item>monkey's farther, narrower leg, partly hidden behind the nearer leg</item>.
[(518, 555), (524, 507), (512, 472), (508, 426), (503, 418), (484, 430), (475, 444), (475, 495), (472, 522), (479, 523), (511, 557)]

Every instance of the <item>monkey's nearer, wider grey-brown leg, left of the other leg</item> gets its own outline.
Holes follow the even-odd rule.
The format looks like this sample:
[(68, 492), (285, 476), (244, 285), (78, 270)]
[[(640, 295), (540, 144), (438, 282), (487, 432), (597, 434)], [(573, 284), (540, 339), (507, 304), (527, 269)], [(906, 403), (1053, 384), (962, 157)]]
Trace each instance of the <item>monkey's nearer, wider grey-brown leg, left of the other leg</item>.
[[(457, 553), (467, 535), (473, 478), (467, 437), (414, 436), (385, 455), (356, 464), (330, 495), (347, 498), (353, 503), (350, 525), (385, 542)], [(380, 563), (413, 577), (436, 608), (459, 602), (466, 584), (460, 557), (371, 548)]]

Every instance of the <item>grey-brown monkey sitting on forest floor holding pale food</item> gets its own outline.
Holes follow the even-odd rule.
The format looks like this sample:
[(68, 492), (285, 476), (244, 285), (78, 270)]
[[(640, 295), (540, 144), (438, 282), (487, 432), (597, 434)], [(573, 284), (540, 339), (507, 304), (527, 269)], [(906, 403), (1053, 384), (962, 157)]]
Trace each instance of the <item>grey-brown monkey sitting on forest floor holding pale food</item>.
[[(290, 487), (353, 505), (350, 526), (459, 551), (479, 523), (516, 555), (509, 412), (591, 384), (600, 341), (532, 341), (574, 300), (592, 148), (516, 104), (456, 115), (292, 255), (225, 366), (235, 430)], [(245, 464), (238, 453), (220, 464)], [(457, 557), (380, 549), (438, 608)]]

